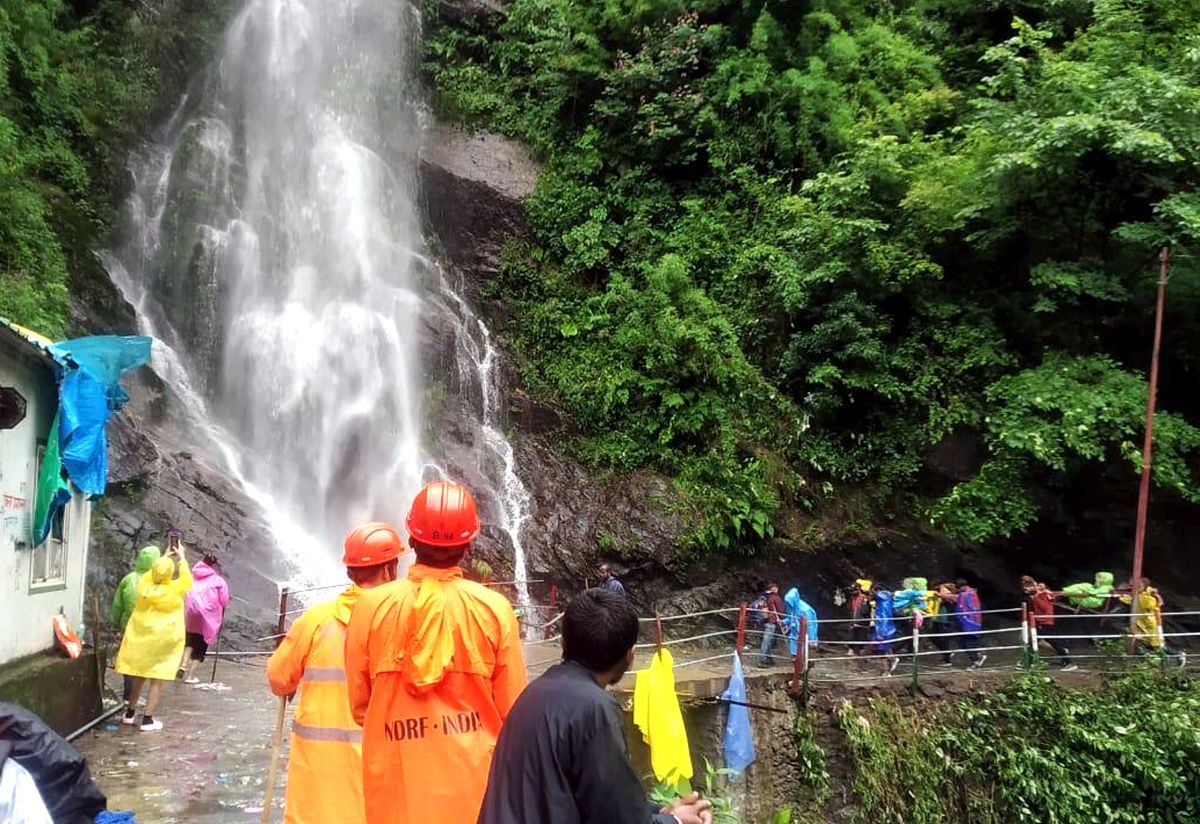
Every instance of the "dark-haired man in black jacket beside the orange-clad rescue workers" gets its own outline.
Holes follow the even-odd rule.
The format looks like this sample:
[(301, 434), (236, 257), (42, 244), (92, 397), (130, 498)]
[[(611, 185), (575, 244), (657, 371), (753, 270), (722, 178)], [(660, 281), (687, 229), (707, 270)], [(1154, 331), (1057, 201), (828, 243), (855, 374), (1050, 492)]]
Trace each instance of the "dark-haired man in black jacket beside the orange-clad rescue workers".
[(563, 615), (563, 663), (526, 687), (500, 729), (479, 824), (712, 824), (692, 794), (650, 804), (605, 687), (634, 663), (637, 614), (589, 589)]

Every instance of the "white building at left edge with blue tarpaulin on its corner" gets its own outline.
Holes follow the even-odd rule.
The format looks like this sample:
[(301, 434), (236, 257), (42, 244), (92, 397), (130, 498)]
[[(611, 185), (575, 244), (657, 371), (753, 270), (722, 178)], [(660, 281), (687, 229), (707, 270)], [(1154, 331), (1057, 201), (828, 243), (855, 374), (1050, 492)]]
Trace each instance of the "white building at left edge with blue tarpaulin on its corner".
[(0, 664), (54, 646), (50, 620), (79, 632), (91, 504), (78, 491), (41, 546), (37, 476), (58, 410), (48, 341), (0, 320)]

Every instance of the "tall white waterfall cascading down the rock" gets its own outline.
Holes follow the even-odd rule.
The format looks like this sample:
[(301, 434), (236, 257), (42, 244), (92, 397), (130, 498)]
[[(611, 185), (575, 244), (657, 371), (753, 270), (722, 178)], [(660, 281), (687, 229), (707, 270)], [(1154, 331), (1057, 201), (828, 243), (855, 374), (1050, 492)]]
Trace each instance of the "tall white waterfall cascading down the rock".
[(472, 449), (490, 488), (475, 492), (524, 582), (529, 495), (496, 353), (426, 257), (415, 209), (419, 37), (396, 0), (248, 0), (133, 158), (122, 242), (101, 257), (194, 434), (305, 579), (336, 573), (354, 524), (400, 524), (438, 474), (420, 344), (425, 315), (450, 307), (462, 383), (481, 397)]

